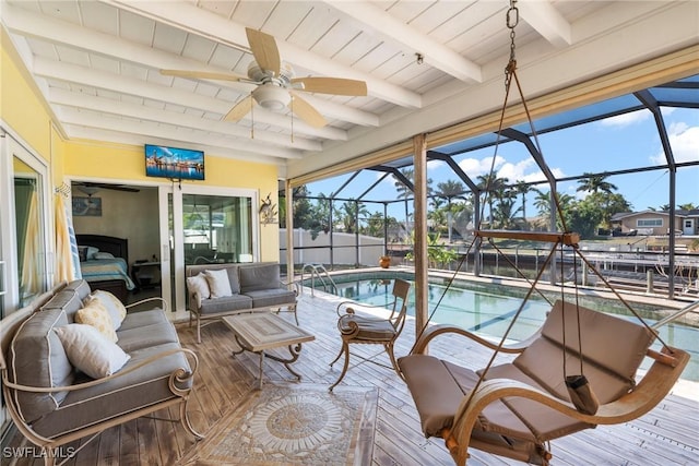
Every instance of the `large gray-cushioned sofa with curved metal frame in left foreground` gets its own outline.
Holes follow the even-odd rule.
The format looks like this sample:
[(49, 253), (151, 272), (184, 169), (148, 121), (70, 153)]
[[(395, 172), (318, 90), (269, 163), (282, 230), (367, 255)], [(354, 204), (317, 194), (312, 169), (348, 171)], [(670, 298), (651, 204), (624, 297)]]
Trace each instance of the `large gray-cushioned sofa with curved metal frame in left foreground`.
[[(201, 439), (187, 417), (197, 356), (180, 346), (163, 309), (127, 312), (116, 345), (100, 340), (110, 344), (110, 355), (128, 355), (118, 362), (123, 366), (104, 377), (86, 375), (91, 370), (76, 361), (100, 346), (73, 346), (64, 335), (85, 327), (96, 332), (74, 324), (88, 296), (95, 295), (83, 279), (61, 284), (0, 322), (2, 391), (16, 428), (43, 450), (47, 465), (55, 464), (61, 445), (169, 406), (179, 405), (179, 421)], [(150, 300), (159, 298), (144, 301)]]

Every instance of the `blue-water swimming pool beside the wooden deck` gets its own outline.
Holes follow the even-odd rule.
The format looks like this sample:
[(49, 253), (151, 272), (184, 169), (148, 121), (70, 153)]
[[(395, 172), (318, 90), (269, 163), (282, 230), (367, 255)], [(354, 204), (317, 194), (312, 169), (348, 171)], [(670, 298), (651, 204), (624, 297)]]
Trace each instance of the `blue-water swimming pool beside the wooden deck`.
[[(367, 304), (387, 306), (392, 301), (390, 292), (393, 278), (412, 282), (413, 274), (401, 271), (367, 272), (339, 274), (332, 277), (336, 290), (333, 292), (325, 289), (327, 291)], [(430, 276), (429, 282), (428, 314), (435, 310), (437, 302), (445, 294), (448, 278)], [(310, 286), (310, 283), (306, 285)], [(454, 324), (484, 336), (500, 338), (521, 306), (525, 294), (526, 288), (459, 279), (447, 290), (431, 322)], [(545, 295), (552, 302), (560, 298), (559, 292)], [(566, 299), (574, 298), (568, 296)], [(414, 302), (415, 290), (411, 288), (410, 315), (415, 315)], [(590, 309), (638, 321), (618, 300), (581, 295), (579, 302)], [(659, 315), (657, 307), (643, 303), (633, 303), (632, 307), (649, 324), (653, 324), (663, 316)], [(510, 331), (510, 338), (521, 340), (533, 334), (541, 326), (549, 309), (550, 304), (543, 297), (536, 292), (532, 294)], [(689, 351), (691, 359), (683, 373), (683, 379), (699, 381), (699, 328), (683, 323), (671, 323), (661, 327), (660, 335), (668, 345)], [(660, 344), (656, 343), (655, 347), (660, 348)]]

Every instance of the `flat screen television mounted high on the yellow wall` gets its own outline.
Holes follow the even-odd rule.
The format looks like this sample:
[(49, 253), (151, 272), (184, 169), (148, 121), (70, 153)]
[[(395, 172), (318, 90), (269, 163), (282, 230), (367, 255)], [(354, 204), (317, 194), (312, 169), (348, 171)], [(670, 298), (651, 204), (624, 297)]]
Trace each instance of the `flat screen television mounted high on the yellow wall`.
[(145, 144), (145, 176), (177, 180), (204, 179), (204, 153)]

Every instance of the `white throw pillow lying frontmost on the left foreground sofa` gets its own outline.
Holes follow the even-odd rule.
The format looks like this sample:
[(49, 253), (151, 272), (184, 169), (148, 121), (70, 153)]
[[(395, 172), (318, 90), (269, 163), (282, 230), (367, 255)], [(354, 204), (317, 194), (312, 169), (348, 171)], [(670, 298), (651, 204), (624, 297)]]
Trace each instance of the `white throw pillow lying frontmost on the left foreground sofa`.
[(70, 362), (93, 379), (111, 375), (131, 358), (91, 325), (61, 325), (54, 327), (54, 332), (63, 344)]

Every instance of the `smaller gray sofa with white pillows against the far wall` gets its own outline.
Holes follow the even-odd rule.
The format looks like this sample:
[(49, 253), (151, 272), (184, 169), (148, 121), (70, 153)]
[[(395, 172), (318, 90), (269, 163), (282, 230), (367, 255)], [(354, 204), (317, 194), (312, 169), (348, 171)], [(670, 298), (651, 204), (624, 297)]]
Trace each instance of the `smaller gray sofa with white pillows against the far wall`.
[[(206, 280), (208, 272), (225, 271), (227, 286), (225, 296), (216, 296), (210, 285), (197, 286)], [(276, 262), (254, 262), (245, 264), (200, 264), (186, 268), (187, 290), (189, 294), (189, 322), (197, 320), (197, 340), (201, 343), (201, 327), (204, 320), (218, 320), (224, 315), (251, 312), (263, 309), (281, 310), (285, 308), (296, 313), (298, 291), (294, 284), (280, 278), (280, 264)], [(211, 284), (211, 280), (206, 280)]]

